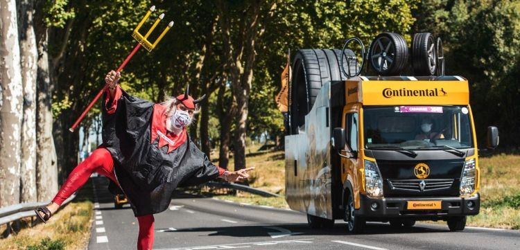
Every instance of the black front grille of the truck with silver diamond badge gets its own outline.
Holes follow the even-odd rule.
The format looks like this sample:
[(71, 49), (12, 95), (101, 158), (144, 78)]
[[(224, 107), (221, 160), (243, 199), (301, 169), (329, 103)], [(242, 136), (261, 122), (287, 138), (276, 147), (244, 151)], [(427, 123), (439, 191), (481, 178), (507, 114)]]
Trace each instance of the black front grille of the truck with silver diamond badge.
[(449, 189), (453, 185), (453, 179), (389, 179), (388, 184), (392, 190), (424, 192)]

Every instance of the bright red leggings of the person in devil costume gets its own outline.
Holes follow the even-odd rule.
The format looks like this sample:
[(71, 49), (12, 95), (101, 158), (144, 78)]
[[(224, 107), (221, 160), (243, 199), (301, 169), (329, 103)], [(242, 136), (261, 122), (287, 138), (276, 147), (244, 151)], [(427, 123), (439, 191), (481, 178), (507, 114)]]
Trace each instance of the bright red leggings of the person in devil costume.
[[(114, 161), (112, 160), (112, 154), (105, 148), (97, 148), (92, 154), (82, 161), (67, 178), (67, 181), (58, 191), (58, 194), (54, 197), (53, 202), (61, 206), (65, 199), (70, 197), (76, 190), (85, 185), (92, 173), (97, 172), (100, 175), (104, 175), (112, 179), (117, 185), (119, 183), (116, 180), (114, 174)], [(153, 247), (153, 228), (154, 218), (153, 215), (144, 215), (137, 217), (139, 222), (139, 238), (137, 238), (137, 249), (148, 250)]]

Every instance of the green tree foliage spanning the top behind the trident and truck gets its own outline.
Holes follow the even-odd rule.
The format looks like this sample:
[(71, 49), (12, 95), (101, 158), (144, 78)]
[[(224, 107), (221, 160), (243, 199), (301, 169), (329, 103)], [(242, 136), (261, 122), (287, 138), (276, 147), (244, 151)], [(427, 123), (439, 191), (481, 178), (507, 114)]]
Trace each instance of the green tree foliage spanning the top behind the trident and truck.
[[(248, 136), (283, 134), (283, 118), (275, 105), (280, 73), (291, 48), (341, 48), (348, 37), (360, 37), (369, 46), (384, 31), (401, 33), (410, 44), (416, 32), (432, 32), (442, 37), (447, 51), (447, 73), (469, 78), (471, 105), (477, 132), (498, 125), (502, 145), (518, 145), (520, 134), (520, 3), (507, 0), (276, 0), (261, 1), (265, 12), (277, 3), (270, 19), (261, 19), (265, 33), (258, 38), (257, 62), (249, 100)], [(135, 46), (132, 29), (150, 7), (150, 1), (44, 1), (46, 22), (53, 28), (49, 47), (57, 56), (65, 42), (65, 53), (53, 72), (57, 84), (53, 93), (53, 114), (58, 120), (76, 117), (103, 86), (105, 73), (115, 69)], [(173, 19), (175, 25), (152, 53), (141, 49), (122, 72), (122, 86), (132, 95), (160, 102), (175, 96), (187, 83), (199, 95), (200, 84), (224, 73), (220, 26), (210, 37), (211, 51), (196, 82), (196, 65), (202, 47), (218, 15), (216, 2), (156, 1), (157, 11), (144, 24), (150, 28), (160, 12), (164, 21), (150, 36)], [(227, 1), (232, 17), (232, 35), (241, 32), (245, 1)], [(67, 20), (73, 20), (70, 36), (64, 41)], [(141, 31), (142, 31), (141, 30)], [(240, 42), (240, 41), (238, 41)], [(238, 52), (236, 52), (238, 53)], [(223, 81), (216, 79), (215, 82)], [(226, 86), (223, 106), (231, 107), (233, 96)], [(199, 95), (200, 96), (200, 95)], [(209, 137), (216, 145), (219, 137), (216, 94), (209, 102)], [(99, 112), (98, 105), (92, 113)], [(90, 115), (92, 119), (96, 114)], [(68, 127), (67, 127), (68, 128)], [(232, 128), (233, 129), (233, 128)], [(232, 133), (230, 131), (229, 133)], [(507, 135), (507, 136), (504, 136)], [(480, 139), (479, 141), (483, 141)]]

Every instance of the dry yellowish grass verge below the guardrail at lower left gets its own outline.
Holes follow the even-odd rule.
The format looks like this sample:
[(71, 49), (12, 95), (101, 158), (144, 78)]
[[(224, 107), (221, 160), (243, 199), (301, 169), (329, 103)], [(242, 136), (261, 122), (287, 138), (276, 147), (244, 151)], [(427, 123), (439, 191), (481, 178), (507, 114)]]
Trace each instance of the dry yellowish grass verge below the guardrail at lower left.
[[(87, 183), (90, 185), (90, 182)], [(20, 222), (21, 230), (8, 238), (0, 239), (0, 249), (23, 250), (68, 250), (86, 249), (92, 225), (92, 202), (85, 193), (92, 194), (90, 188), (82, 188), (76, 199), (67, 204), (51, 220), (31, 227), (31, 220)], [(40, 220), (40, 219), (35, 219)], [(1, 231), (6, 226), (0, 227)]]

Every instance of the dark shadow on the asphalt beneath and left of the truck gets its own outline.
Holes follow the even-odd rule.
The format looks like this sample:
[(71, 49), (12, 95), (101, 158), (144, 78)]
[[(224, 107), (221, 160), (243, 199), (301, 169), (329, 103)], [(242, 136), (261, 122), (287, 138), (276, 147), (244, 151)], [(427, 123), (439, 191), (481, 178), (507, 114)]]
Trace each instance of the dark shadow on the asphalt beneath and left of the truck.
[[(232, 236), (232, 237), (255, 237), (265, 236), (266, 233), (281, 233), (270, 227), (279, 227), (288, 229), (291, 233), (297, 235), (348, 235), (346, 224), (337, 224), (331, 229), (309, 229), (307, 224), (257, 224), (244, 226), (219, 226), (219, 227), (196, 227), (196, 228), (177, 228), (176, 231), (168, 231), (167, 233), (177, 232), (208, 232), (209, 236)], [(157, 229), (161, 230), (161, 229)], [(396, 229), (388, 224), (367, 224), (367, 227), (360, 235), (381, 235), (381, 234), (395, 234), (395, 233), (445, 233), (448, 229), (431, 229), (423, 226), (413, 226), (411, 228)]]

